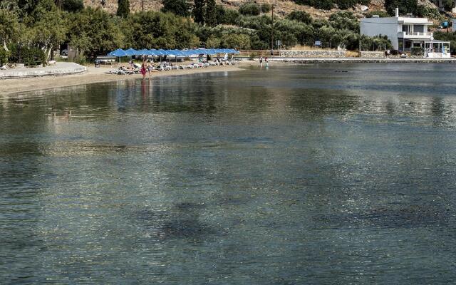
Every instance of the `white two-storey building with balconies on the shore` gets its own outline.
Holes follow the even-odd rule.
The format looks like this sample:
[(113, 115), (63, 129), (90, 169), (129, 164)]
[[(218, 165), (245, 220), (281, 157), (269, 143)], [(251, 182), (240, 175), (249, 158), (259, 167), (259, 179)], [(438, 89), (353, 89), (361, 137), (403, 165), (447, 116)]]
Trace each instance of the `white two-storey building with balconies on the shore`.
[(432, 21), (427, 18), (399, 16), (399, 9), (396, 9), (394, 17), (361, 19), (361, 35), (388, 36), (398, 51), (410, 52), (420, 48), (424, 57), (449, 58), (450, 42), (435, 41), (427, 29), (430, 25)]

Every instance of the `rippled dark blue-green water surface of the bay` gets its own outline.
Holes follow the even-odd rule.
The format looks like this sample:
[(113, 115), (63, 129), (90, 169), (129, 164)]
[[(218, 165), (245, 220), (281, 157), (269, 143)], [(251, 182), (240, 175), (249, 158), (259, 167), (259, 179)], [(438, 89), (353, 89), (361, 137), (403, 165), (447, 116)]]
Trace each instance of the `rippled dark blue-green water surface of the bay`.
[(455, 72), (273, 66), (0, 96), (0, 284), (453, 283)]

